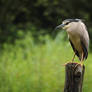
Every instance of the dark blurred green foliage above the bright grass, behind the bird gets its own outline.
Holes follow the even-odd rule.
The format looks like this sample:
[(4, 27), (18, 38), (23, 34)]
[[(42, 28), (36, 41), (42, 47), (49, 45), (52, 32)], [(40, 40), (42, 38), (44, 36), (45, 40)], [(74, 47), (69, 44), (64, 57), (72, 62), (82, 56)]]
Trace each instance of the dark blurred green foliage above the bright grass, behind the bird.
[(37, 28), (35, 35), (42, 28), (50, 29), (50, 34), (66, 18), (84, 19), (92, 39), (91, 10), (89, 0), (0, 0), (0, 42), (14, 42), (16, 29), (26, 32), (31, 25)]

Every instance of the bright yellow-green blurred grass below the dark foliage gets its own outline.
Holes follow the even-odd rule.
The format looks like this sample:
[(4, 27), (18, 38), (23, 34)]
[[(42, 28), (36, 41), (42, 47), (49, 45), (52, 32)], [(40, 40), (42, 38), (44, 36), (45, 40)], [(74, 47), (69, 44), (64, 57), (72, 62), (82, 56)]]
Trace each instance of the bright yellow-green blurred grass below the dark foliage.
[[(55, 40), (40, 37), (36, 44), (31, 34), (15, 45), (4, 45), (0, 56), (0, 92), (63, 92), (64, 66), (71, 60), (72, 48), (60, 33)], [(83, 92), (92, 92), (92, 54), (89, 54)], [(76, 58), (76, 61), (78, 59)]]

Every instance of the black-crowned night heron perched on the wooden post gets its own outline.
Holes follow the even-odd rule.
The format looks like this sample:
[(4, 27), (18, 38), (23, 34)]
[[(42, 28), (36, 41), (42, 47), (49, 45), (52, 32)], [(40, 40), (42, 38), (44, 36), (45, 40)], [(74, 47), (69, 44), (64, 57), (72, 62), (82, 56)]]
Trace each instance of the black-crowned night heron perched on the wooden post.
[(80, 61), (87, 59), (89, 47), (89, 35), (85, 24), (80, 19), (66, 19), (56, 27), (56, 29), (63, 28), (68, 33), (69, 41)]

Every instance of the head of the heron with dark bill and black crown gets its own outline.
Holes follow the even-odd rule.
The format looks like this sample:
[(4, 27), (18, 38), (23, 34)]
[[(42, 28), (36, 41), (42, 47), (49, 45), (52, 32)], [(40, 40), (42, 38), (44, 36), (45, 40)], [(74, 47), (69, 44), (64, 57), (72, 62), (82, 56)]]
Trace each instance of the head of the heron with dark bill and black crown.
[(73, 27), (74, 25), (73, 24), (76, 24), (78, 22), (80, 22), (81, 19), (66, 19), (62, 22), (62, 24), (60, 24), (59, 26), (57, 26), (55, 29), (69, 29), (71, 27)]

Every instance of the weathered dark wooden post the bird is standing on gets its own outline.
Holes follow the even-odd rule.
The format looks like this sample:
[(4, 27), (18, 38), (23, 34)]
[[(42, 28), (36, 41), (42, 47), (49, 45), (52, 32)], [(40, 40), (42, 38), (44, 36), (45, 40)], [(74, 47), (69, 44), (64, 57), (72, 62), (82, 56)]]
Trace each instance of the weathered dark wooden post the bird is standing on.
[(65, 66), (64, 92), (82, 92), (85, 66), (78, 63), (68, 63)]

